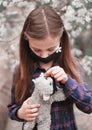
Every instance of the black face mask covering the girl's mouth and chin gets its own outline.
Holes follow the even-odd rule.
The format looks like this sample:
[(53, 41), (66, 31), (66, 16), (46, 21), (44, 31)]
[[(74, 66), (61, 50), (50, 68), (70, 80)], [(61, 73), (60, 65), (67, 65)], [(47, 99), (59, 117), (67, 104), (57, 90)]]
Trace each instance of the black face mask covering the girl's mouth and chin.
[(42, 62), (42, 63), (49, 63), (50, 61), (56, 61), (56, 59), (58, 58), (60, 53), (57, 53), (56, 51), (54, 53), (52, 53), (51, 55), (49, 55), (46, 58), (42, 58), (38, 55), (36, 55), (32, 50), (31, 50), (31, 57), (34, 61), (36, 62)]

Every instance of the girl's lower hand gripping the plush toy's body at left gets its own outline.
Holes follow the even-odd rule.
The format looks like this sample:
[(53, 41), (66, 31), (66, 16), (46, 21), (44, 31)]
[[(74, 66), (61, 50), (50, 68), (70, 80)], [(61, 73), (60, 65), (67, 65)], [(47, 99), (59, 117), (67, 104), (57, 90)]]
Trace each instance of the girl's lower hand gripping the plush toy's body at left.
[(24, 119), (26, 121), (33, 121), (38, 116), (38, 110), (40, 107), (40, 104), (33, 104), (29, 105), (28, 101), (30, 98), (28, 98), (24, 103), (22, 104), (21, 108), (17, 111), (17, 116), (20, 119)]

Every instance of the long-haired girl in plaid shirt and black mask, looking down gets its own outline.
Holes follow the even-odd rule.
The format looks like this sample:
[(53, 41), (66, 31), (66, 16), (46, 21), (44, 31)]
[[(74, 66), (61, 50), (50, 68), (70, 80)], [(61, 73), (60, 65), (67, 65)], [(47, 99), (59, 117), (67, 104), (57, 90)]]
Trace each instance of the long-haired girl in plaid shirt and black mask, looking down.
[[(51, 76), (63, 88), (65, 101), (51, 107), (51, 130), (77, 130), (73, 104), (92, 112), (92, 92), (78, 60), (71, 54), (68, 33), (60, 16), (48, 6), (34, 9), (27, 17), (20, 37), (20, 63), (15, 69), (9, 116), (17, 121), (33, 121), (40, 104), (28, 104), (34, 90), (33, 78)], [(36, 129), (36, 127), (34, 128)]]

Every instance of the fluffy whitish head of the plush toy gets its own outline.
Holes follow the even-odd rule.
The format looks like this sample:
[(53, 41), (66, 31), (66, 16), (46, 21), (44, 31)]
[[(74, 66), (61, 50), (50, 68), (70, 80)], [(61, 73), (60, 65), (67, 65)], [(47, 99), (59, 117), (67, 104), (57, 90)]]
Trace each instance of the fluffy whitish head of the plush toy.
[(49, 100), (53, 94), (53, 79), (51, 77), (45, 77), (44, 73), (32, 80), (35, 84), (35, 89), (38, 89), (40, 96), (44, 101)]

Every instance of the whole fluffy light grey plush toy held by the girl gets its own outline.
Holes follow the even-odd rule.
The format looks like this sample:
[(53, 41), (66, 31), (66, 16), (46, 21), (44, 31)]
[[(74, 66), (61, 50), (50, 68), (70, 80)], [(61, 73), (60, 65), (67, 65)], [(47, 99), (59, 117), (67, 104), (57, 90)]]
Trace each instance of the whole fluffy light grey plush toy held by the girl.
[(34, 121), (25, 122), (24, 130), (32, 130), (37, 123), (38, 130), (50, 130), (51, 125), (51, 104), (54, 101), (65, 100), (63, 90), (57, 88), (57, 91), (53, 94), (53, 79), (51, 77), (45, 77), (44, 73), (33, 79), (35, 89), (30, 97), (29, 104), (39, 103), (39, 116)]

